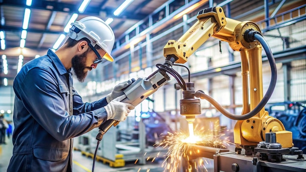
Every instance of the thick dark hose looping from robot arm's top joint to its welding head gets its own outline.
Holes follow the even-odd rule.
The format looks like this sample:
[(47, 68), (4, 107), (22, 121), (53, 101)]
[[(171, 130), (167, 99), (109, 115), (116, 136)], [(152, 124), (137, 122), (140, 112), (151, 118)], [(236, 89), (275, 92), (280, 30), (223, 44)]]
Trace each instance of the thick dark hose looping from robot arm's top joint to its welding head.
[(213, 105), (217, 105), (217, 109), (226, 117), (233, 119), (233, 120), (246, 120), (248, 118), (251, 118), (253, 116), (255, 116), (258, 112), (261, 111), (261, 109), (266, 105), (266, 103), (268, 102), (268, 100), (270, 99), (273, 90), (276, 86), (276, 79), (277, 79), (277, 68), (276, 68), (276, 63), (275, 63), (275, 59), (273, 57), (273, 53), (271, 52), (271, 49), (268, 45), (268, 43), (263, 39), (262, 35), (259, 32), (249, 32), (250, 35), (252, 35), (254, 37), (254, 39), (258, 40), (261, 44), (262, 47), (267, 55), (270, 67), (271, 67), (271, 80), (270, 80), (270, 85), (265, 93), (265, 95), (263, 96), (262, 100), (260, 101), (260, 103), (250, 112), (244, 114), (244, 115), (235, 115), (232, 113), (229, 113), (228, 111), (226, 111), (224, 108), (222, 108), (213, 98), (211, 98), (210, 96), (206, 95), (205, 93), (201, 92), (201, 91), (197, 91), (196, 92), (196, 97), (198, 98), (206, 98), (208, 99), (208, 101), (210, 103), (212, 103)]

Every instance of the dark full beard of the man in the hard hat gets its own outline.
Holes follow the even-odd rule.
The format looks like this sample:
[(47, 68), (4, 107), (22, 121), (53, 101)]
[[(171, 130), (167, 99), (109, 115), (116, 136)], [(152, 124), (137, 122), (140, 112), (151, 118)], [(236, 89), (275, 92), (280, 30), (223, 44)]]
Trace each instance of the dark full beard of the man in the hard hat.
[(82, 83), (84, 82), (84, 80), (87, 76), (87, 71), (85, 71), (85, 69), (86, 68), (90, 69), (90, 70), (92, 69), (92, 67), (86, 66), (87, 52), (88, 52), (88, 50), (81, 55), (75, 55), (71, 60), (72, 69), (73, 69), (77, 79)]

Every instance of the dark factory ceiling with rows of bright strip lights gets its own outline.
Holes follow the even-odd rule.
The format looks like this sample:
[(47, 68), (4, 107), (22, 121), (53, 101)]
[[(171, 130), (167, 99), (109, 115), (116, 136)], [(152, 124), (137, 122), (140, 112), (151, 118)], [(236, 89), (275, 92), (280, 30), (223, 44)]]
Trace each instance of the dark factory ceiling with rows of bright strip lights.
[[(66, 34), (69, 21), (78, 21), (87, 16), (97, 16), (104, 21), (112, 19), (109, 25), (114, 30), (116, 39), (125, 38), (127, 31), (141, 23), (140, 21), (158, 21), (168, 13), (179, 9), (186, 3), (200, 3), (201, 8), (223, 3), (230, 4), (231, 17), (242, 19), (243, 11), (258, 9), (258, 19), (264, 19), (266, 0), (0, 0), (0, 86), (7, 78), (8, 85), (20, 67), (42, 56), (48, 48), (57, 49), (55, 43), (61, 34)], [(285, 0), (268, 0), (274, 9)], [(293, 0), (301, 2), (303, 0)], [(88, 2), (82, 10), (82, 3)], [(128, 5), (121, 13), (114, 12), (122, 5)], [(289, 3), (288, 1), (284, 3)], [(292, 2), (290, 2), (292, 3)], [(166, 5), (165, 5), (166, 4)], [(283, 4), (282, 4), (283, 5)], [(273, 8), (271, 8), (273, 9)], [(198, 10), (198, 9), (194, 9)], [(167, 10), (166, 10), (167, 11)], [(280, 10), (281, 11), (281, 10)], [(248, 13), (248, 15), (250, 15)], [(253, 15), (254, 18), (255, 15)], [(150, 23), (150, 20), (149, 20)], [(146, 29), (146, 25), (143, 24)], [(148, 26), (147, 26), (148, 27)], [(139, 28), (139, 27), (138, 27)], [(60, 42), (63, 43), (63, 42)], [(116, 45), (115, 45), (116, 46)]]

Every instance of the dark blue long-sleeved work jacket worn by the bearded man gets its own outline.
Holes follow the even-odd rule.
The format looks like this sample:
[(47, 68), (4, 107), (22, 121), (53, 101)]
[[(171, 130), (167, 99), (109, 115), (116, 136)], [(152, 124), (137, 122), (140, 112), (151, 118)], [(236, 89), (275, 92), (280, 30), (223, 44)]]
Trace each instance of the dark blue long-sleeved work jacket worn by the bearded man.
[(7, 171), (71, 172), (72, 138), (107, 119), (106, 98), (83, 103), (72, 86), (70, 69), (50, 49), (24, 64), (13, 88), (14, 147)]

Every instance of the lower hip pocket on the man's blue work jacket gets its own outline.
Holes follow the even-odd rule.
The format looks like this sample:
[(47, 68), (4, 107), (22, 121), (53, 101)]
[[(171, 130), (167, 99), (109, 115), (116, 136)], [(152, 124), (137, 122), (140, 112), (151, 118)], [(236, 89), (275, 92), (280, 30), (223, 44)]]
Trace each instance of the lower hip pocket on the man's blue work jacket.
[(69, 153), (67, 148), (33, 148), (33, 154), (36, 158), (47, 161), (59, 161), (66, 159)]

